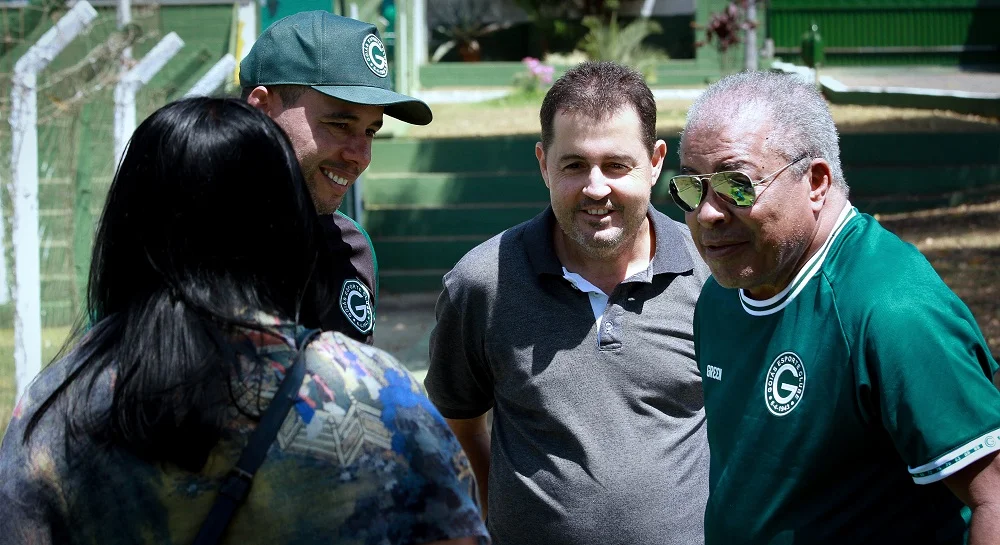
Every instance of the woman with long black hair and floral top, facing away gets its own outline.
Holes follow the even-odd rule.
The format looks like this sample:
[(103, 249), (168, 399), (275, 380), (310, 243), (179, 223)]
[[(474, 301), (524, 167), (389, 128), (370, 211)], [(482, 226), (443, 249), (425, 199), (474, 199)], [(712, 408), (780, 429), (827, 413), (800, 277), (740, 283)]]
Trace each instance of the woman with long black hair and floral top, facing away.
[(340, 304), (322, 237), (263, 114), (200, 98), (144, 121), (97, 230), (86, 327), (0, 447), (0, 543), (485, 543), (421, 386), (384, 352), (306, 334)]

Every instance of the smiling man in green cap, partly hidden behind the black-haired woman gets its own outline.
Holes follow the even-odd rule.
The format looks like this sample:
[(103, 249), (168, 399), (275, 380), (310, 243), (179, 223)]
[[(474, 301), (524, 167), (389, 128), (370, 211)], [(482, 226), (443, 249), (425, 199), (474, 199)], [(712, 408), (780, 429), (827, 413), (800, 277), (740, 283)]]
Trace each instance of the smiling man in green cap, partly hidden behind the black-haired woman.
[(431, 122), (427, 104), (389, 88), (389, 61), (374, 25), (325, 11), (276, 21), (240, 63), (250, 105), (291, 140), (342, 272), (328, 327), (371, 343), (378, 262), (368, 233), (337, 208), (371, 162), (382, 115)]

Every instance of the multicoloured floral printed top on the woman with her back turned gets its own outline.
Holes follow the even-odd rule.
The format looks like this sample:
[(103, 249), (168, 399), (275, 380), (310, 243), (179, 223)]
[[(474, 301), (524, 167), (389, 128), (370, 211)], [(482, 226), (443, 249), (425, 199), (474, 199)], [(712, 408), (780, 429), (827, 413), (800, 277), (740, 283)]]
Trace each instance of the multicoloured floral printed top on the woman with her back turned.
[[(234, 341), (265, 364), (260, 372), (248, 352), (239, 356), (257, 370), (233, 379), (244, 407), (266, 407), (296, 354), (294, 327), (260, 319), (274, 333)], [(468, 459), (423, 387), (390, 355), (340, 333), (317, 337), (305, 358), (299, 400), (224, 542), (488, 543)], [(197, 473), (67, 442), (66, 411), (49, 410), (25, 444), (25, 424), (72, 359), (49, 366), (14, 410), (0, 446), (0, 544), (190, 543), (253, 421), (233, 409), (232, 433)], [(98, 383), (107, 403), (112, 385)]]

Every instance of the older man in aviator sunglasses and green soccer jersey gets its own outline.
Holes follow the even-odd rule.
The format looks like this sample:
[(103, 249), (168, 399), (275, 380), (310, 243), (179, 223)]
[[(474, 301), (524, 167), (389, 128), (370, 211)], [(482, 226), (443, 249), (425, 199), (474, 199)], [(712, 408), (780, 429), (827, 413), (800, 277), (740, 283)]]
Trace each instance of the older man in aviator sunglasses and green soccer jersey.
[(680, 158), (670, 193), (713, 274), (706, 544), (996, 542), (997, 363), (920, 253), (851, 205), (823, 97), (724, 78)]

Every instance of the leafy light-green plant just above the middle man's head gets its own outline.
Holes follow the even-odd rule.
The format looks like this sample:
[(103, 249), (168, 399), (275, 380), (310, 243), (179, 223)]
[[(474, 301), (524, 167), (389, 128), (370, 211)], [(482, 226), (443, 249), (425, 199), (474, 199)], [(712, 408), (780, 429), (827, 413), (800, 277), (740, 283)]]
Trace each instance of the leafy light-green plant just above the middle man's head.
[(659, 49), (643, 45), (643, 40), (653, 34), (663, 32), (659, 23), (640, 17), (625, 26), (618, 23), (618, 12), (611, 12), (605, 22), (596, 16), (583, 19), (589, 29), (580, 40), (579, 47), (591, 60), (613, 61), (631, 66), (642, 72), (646, 81), (656, 80), (656, 63), (667, 60), (667, 54)]

